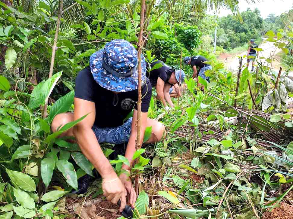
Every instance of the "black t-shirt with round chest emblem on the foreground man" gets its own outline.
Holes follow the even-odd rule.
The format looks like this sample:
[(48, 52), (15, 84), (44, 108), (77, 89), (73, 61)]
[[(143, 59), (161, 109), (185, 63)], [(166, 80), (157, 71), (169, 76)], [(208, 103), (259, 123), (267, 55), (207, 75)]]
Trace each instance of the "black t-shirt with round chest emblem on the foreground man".
[[(96, 120), (94, 124), (100, 128), (121, 126), (132, 109), (137, 109), (138, 90), (115, 94), (101, 87), (94, 80), (90, 67), (84, 68), (78, 73), (74, 96), (95, 103)], [(142, 88), (142, 112), (148, 111), (151, 97), (152, 86), (146, 78), (146, 83)]]

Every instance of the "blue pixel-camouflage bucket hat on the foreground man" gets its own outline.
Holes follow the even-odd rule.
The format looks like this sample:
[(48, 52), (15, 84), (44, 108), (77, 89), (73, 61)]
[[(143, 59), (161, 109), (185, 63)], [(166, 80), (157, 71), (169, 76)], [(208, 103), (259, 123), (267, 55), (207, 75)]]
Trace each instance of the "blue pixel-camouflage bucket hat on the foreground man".
[[(95, 81), (115, 92), (138, 88), (137, 50), (128, 41), (115, 39), (90, 56), (90, 69)], [(141, 80), (146, 78), (146, 62), (141, 55)]]

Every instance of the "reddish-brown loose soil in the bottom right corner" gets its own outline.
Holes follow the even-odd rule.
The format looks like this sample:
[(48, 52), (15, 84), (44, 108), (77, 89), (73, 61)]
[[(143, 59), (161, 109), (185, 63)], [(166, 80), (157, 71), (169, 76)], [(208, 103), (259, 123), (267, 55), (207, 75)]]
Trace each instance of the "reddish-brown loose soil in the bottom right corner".
[(288, 205), (281, 202), (279, 208), (274, 208), (271, 212), (266, 211), (262, 219), (292, 219), (293, 218), (293, 205)]

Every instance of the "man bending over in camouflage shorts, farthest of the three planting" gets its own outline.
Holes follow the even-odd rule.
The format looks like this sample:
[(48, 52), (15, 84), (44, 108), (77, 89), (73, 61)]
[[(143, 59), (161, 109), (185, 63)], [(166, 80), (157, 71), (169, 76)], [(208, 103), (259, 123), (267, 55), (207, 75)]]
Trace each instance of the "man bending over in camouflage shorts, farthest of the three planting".
[[(191, 65), (191, 68), (193, 70), (192, 78), (196, 78), (197, 87), (200, 87), (201, 90), (204, 90), (204, 86), (198, 82), (198, 76), (210, 82), (210, 77), (206, 77), (205, 71), (212, 70), (212, 66), (205, 62), (207, 62), (207, 59), (204, 56), (193, 56), (193, 57), (186, 56), (184, 58), (185, 65)], [(199, 68), (198, 72), (197, 72), (197, 68)]]

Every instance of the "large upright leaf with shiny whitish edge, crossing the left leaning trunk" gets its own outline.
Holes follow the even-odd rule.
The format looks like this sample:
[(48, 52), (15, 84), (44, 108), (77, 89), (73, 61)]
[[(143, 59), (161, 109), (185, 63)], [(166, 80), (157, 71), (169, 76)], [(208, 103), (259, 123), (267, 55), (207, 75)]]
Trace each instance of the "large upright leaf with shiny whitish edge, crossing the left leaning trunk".
[[(46, 103), (53, 88), (55, 87), (55, 84), (57, 83), (61, 75), (62, 75), (62, 71), (52, 75), (52, 77), (49, 78), (47, 81), (45, 81), (41, 87), (39, 87), (39, 84), (36, 86), (38, 87), (39, 92), (38, 93), (32, 92), (32, 96), (34, 98), (30, 98), (29, 107), (31, 109), (35, 109), (39, 107), (40, 105), (44, 105)], [(36, 89), (36, 87), (34, 89)]]

